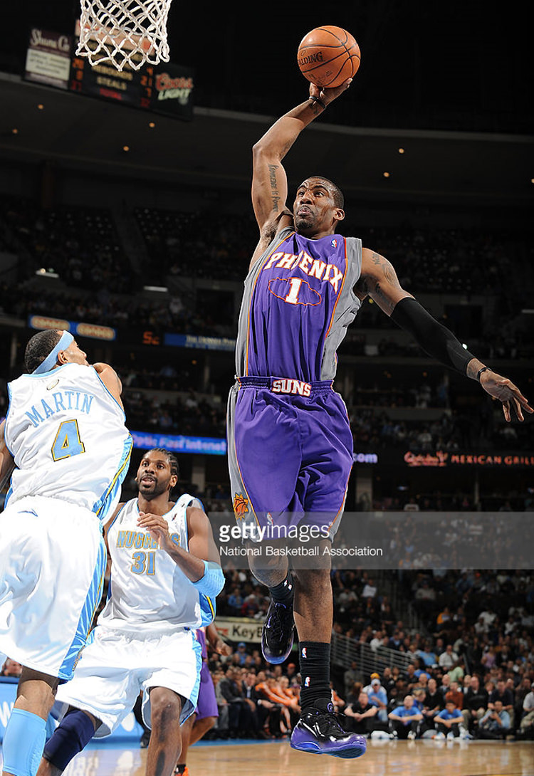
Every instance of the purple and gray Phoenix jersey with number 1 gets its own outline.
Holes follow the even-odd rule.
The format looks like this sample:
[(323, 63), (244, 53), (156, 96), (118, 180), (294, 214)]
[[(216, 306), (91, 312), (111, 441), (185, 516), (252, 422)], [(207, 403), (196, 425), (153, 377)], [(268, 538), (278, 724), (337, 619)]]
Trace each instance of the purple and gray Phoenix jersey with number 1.
[(336, 351), (361, 305), (352, 291), (361, 268), (356, 237), (279, 232), (244, 282), (236, 375), (334, 379)]

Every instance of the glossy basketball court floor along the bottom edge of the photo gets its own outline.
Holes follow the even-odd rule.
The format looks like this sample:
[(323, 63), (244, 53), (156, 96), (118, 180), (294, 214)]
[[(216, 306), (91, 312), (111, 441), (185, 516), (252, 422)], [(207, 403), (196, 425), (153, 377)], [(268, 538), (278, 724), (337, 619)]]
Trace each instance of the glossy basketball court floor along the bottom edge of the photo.
[[(65, 776), (144, 776), (146, 750), (90, 744)], [(2, 758), (0, 757), (0, 760)], [(357, 760), (296, 752), (287, 741), (198, 743), (190, 776), (534, 776), (534, 743), (504, 741), (369, 741)]]

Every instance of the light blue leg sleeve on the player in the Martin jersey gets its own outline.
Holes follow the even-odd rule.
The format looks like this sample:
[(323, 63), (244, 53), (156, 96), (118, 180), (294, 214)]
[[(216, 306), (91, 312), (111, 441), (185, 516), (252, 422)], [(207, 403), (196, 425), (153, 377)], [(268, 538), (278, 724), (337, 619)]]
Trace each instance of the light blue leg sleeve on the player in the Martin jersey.
[(13, 708), (2, 742), (3, 771), (36, 776), (46, 739), (47, 723), (32, 712)]

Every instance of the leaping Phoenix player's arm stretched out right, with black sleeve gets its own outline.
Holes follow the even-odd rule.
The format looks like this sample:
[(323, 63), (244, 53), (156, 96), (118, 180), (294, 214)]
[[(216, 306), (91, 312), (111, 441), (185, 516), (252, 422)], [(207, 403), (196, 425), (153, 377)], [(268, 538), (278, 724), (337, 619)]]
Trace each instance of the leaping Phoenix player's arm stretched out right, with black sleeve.
[(502, 404), (506, 421), (511, 421), (511, 407), (518, 420), (523, 411), (534, 409), (514, 383), (484, 365), (458, 341), (448, 328), (440, 324), (411, 293), (401, 288), (393, 266), (376, 251), (363, 248), (362, 273), (355, 286), (360, 299), (370, 296), (395, 323), (409, 332), (421, 348), (450, 369), (477, 380), (491, 397)]

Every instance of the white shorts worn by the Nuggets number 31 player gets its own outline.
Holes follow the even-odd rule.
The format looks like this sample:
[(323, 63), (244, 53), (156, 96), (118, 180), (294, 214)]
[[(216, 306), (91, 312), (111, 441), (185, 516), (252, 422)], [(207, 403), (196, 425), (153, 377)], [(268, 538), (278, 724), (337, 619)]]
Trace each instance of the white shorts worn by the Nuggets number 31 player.
[[(154, 623), (154, 627), (157, 623)], [(195, 710), (199, 695), (202, 650), (192, 630), (138, 636), (98, 625), (85, 647), (76, 674), (57, 690), (59, 716), (68, 705), (90, 712), (102, 722), (95, 737), (113, 733), (131, 712), (143, 691), (142, 713), (151, 727), (150, 690), (164, 687), (186, 698), (184, 722)]]

